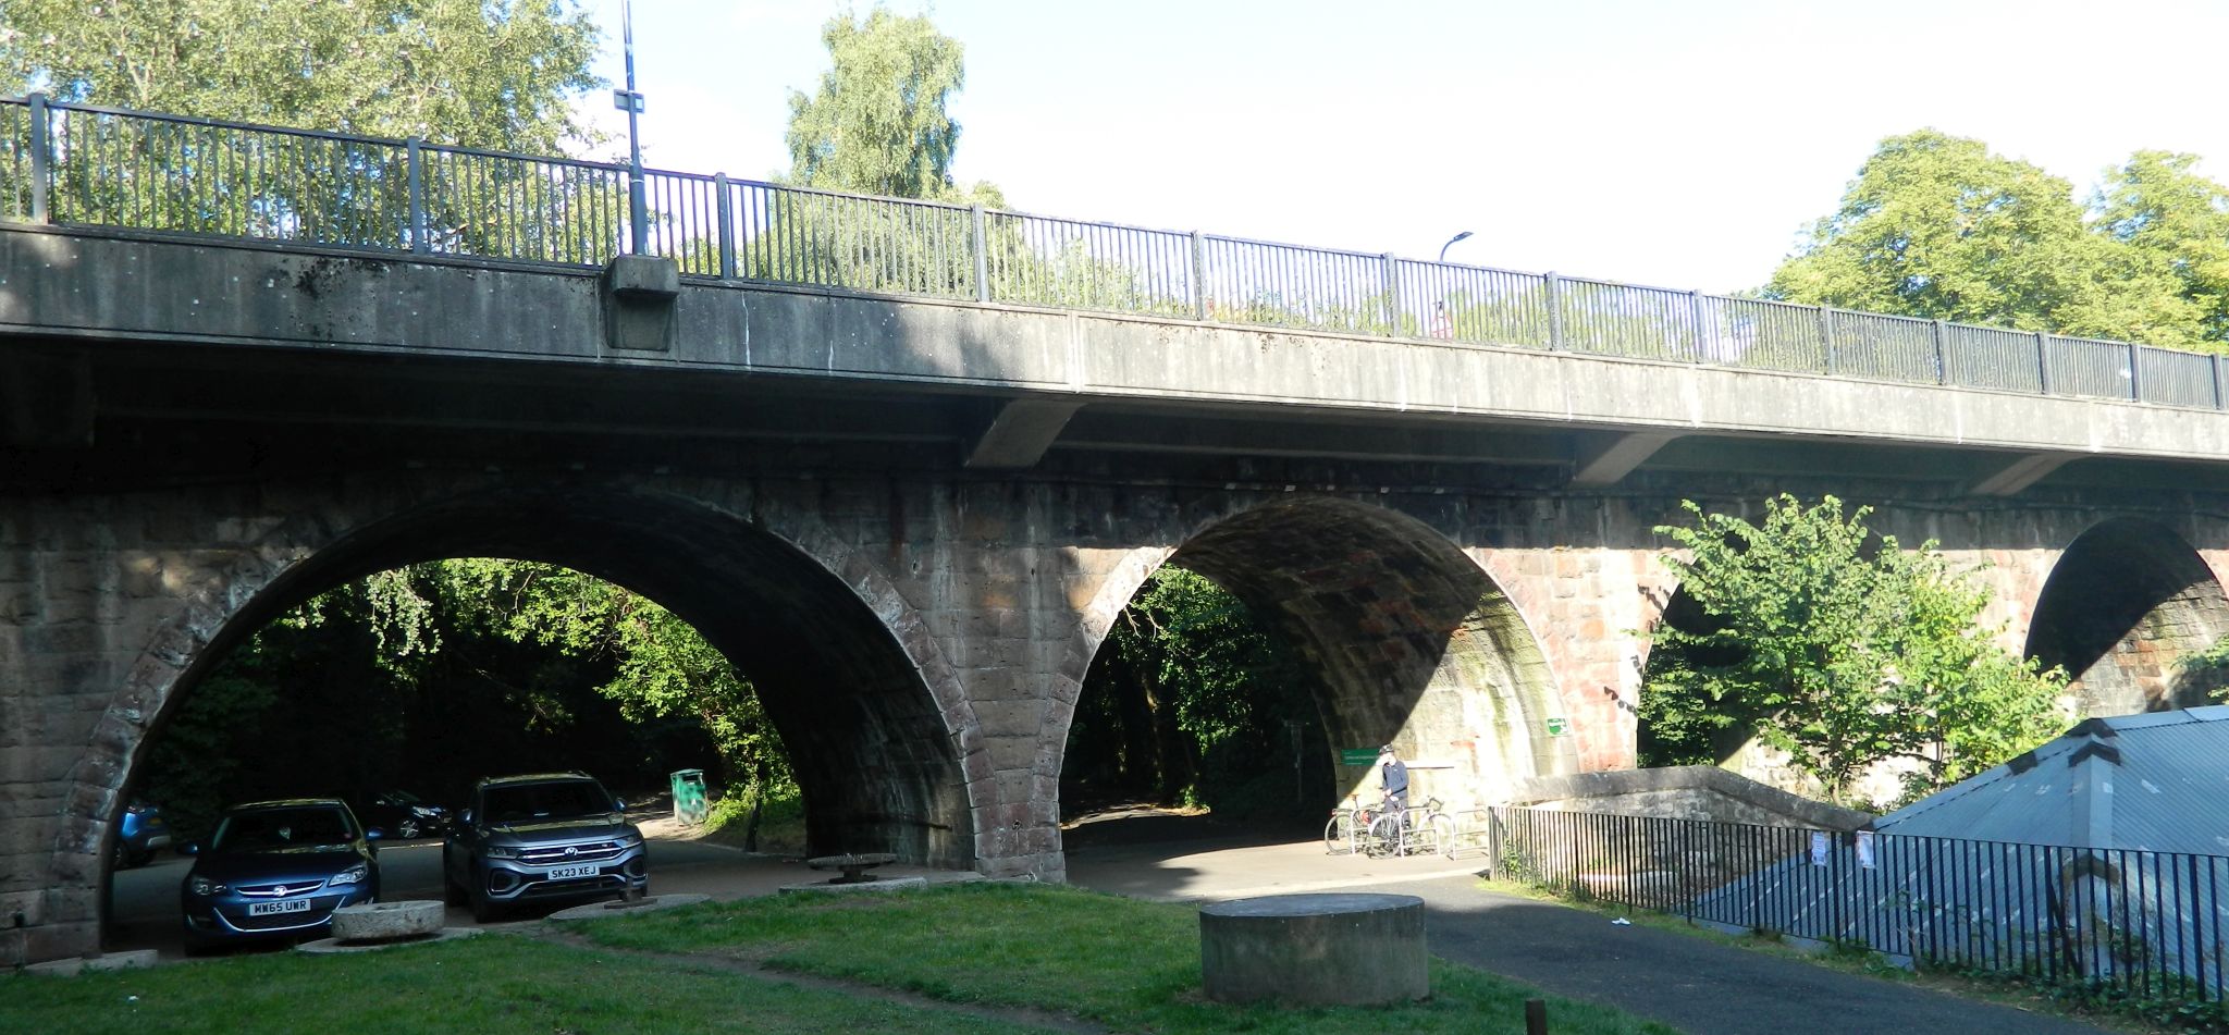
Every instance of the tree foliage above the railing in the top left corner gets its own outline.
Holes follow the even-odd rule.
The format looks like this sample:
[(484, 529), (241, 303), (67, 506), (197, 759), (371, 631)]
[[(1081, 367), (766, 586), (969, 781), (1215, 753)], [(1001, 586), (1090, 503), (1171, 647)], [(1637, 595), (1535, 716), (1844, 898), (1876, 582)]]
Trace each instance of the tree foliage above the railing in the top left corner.
[(535, 154), (586, 136), (597, 42), (571, 0), (0, 0), (13, 89)]

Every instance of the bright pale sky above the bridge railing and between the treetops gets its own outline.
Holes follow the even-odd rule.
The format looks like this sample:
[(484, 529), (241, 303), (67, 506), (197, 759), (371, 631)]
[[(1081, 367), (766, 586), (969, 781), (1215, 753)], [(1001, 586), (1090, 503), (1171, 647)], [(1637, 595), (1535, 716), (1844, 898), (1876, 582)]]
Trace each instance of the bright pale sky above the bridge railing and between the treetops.
[[(622, 80), (620, 0), (600, 71)], [(869, 4), (635, 0), (644, 163), (769, 178), (820, 25)], [(965, 45), (958, 181), (1021, 212), (1761, 286), (1872, 147), (1937, 127), (2082, 196), (2135, 149), (2229, 178), (2229, 2), (892, 0)], [(624, 116), (582, 100), (600, 125)]]

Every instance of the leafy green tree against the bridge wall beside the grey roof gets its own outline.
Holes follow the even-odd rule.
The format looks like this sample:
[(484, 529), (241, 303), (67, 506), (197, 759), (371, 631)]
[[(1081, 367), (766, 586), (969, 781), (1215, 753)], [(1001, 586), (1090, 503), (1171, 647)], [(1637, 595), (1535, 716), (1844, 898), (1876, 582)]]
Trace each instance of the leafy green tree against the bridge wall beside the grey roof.
[(1661, 625), (1641, 720), (1652, 765), (1712, 763), (1719, 732), (1788, 752), (1828, 796), (1881, 761), (1919, 794), (2024, 752), (2064, 725), (2060, 671), (2037, 671), (1977, 627), (1988, 593), (1924, 542), (1906, 551), (1841, 500), (1768, 502), (1763, 524), (1694, 515), (1658, 526), (1687, 558), (1663, 562), (1698, 607)]

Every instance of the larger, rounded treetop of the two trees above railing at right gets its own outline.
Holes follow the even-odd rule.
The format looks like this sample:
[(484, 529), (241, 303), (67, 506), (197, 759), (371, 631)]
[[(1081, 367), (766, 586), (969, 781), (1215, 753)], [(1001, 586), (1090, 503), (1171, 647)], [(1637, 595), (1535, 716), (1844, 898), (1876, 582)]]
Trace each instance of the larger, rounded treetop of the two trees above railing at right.
[(1881, 141), (1808, 236), (1770, 297), (2158, 346), (2202, 337), (2180, 286), (2093, 232), (2071, 183), (1982, 141), (1937, 129)]

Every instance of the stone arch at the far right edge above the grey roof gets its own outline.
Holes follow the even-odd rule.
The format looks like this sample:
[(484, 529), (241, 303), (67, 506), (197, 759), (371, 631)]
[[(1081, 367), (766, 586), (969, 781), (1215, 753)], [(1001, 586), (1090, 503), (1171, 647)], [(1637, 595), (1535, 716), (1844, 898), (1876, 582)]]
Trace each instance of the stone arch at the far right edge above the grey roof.
[(2073, 678), (2084, 718), (2209, 703), (2216, 680), (2180, 660), (2229, 636), (2213, 569), (2164, 524), (2113, 518), (2060, 553), (2028, 620), (2026, 656)]

